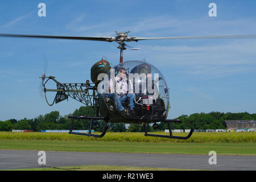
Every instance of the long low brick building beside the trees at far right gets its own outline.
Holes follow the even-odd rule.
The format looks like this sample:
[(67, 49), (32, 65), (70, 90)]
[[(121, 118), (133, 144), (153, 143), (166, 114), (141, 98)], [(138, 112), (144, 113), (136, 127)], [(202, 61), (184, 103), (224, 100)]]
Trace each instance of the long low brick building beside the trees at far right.
[(256, 129), (255, 120), (225, 120), (224, 126), (227, 129)]

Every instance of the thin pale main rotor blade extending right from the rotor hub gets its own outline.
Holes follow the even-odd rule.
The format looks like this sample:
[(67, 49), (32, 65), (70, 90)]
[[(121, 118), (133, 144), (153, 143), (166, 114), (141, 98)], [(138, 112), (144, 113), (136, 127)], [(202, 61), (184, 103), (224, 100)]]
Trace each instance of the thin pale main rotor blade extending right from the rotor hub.
[(154, 39), (256, 39), (256, 35), (213, 35), (213, 36), (172, 36), (163, 38), (133, 38), (133, 40)]

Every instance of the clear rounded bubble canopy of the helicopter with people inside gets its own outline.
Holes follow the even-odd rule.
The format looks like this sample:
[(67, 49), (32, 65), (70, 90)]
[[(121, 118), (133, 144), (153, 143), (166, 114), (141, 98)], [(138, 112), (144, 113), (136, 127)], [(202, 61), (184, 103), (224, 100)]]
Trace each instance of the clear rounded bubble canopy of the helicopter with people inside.
[(126, 118), (141, 120), (167, 118), (170, 104), (166, 80), (146, 61), (125, 61), (115, 65), (100, 82), (98, 92), (110, 114), (118, 111)]

